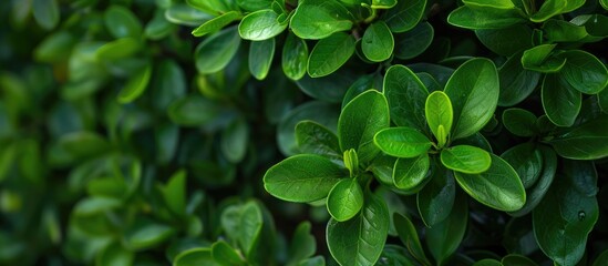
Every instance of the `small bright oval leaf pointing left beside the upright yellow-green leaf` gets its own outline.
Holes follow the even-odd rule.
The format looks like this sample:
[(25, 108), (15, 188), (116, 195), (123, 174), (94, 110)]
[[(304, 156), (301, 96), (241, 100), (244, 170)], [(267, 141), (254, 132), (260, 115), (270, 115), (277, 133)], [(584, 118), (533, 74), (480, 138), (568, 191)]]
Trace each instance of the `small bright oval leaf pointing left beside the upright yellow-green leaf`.
[(418, 157), (432, 146), (424, 134), (403, 126), (378, 132), (373, 142), (382, 152), (395, 157)]

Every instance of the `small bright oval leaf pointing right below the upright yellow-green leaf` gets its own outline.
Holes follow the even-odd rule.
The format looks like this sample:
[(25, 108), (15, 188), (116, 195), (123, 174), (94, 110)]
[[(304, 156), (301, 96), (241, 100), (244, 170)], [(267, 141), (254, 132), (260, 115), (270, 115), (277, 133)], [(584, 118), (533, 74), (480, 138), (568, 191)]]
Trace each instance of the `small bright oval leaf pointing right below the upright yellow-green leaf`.
[(456, 145), (441, 151), (441, 163), (460, 173), (480, 174), (490, 168), (492, 158), (480, 147)]

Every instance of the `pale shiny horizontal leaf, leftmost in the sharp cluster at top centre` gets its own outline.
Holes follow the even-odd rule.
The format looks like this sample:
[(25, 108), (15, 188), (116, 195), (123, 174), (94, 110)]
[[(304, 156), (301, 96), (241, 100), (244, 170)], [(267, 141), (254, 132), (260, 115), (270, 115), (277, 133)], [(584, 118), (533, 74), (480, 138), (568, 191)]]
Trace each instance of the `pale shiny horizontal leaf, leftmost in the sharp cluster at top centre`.
[(245, 40), (262, 41), (280, 34), (287, 23), (279, 23), (279, 14), (270, 9), (259, 10), (243, 18), (238, 33)]

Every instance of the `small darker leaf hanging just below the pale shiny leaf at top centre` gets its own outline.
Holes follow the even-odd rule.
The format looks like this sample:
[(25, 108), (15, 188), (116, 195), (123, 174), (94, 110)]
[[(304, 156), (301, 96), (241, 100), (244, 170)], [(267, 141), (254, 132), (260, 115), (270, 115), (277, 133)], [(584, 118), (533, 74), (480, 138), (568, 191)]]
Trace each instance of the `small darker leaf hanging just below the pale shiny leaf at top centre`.
[(275, 38), (253, 41), (249, 47), (249, 72), (257, 80), (266, 79), (275, 57)]

